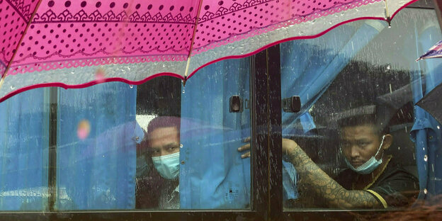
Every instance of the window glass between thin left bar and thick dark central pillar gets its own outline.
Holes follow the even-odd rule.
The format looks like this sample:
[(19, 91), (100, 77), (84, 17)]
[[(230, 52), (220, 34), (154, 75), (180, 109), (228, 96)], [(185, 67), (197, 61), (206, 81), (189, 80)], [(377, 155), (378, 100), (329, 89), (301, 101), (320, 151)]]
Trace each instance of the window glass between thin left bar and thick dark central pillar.
[(55, 209), (249, 208), (249, 76), (249, 59), (226, 60), (186, 86), (60, 89)]

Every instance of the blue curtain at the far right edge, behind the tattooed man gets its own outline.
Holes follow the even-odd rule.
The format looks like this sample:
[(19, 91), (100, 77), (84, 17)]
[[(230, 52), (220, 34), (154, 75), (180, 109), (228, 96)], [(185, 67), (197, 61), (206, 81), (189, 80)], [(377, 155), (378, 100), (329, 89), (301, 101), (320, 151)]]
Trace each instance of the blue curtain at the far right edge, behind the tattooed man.
[[(410, 46), (415, 53), (409, 57), (412, 64), (413, 101), (416, 103), (429, 94), (442, 82), (442, 60), (421, 60), (413, 62), (428, 50), (433, 44), (442, 39), (441, 29), (437, 24), (424, 26), (418, 30), (415, 26), (415, 42)], [(414, 106), (414, 125), (411, 132), (412, 140), (416, 143), (416, 165), (419, 173), (419, 198), (431, 198), (442, 193), (442, 125), (428, 112), (419, 106)]]

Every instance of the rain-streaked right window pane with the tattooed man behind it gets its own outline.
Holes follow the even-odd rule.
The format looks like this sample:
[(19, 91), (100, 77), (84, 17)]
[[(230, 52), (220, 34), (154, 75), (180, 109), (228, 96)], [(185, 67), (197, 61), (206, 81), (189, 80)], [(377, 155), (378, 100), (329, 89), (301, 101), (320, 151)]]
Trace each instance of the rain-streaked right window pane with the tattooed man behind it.
[(434, 170), (422, 184), (440, 126), (414, 103), (442, 60), (414, 60), (441, 37), (433, 10), (405, 8), (391, 27), (356, 21), (280, 45), (285, 210), (404, 208), (440, 192)]

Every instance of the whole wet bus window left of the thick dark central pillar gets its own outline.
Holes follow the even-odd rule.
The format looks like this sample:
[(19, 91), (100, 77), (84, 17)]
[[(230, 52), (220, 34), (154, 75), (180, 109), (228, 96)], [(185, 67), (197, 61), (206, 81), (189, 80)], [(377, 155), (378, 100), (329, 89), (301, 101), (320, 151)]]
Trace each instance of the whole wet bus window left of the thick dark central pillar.
[(1, 103), (0, 210), (250, 208), (249, 65)]

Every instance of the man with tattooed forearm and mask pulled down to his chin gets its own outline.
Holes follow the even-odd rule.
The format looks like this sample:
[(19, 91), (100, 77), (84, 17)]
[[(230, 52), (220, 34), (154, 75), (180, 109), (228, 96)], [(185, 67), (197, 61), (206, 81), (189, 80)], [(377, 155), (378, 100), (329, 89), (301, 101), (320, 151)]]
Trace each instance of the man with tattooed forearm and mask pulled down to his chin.
[[(283, 154), (288, 155), (307, 188), (302, 191), (314, 193), (329, 208), (397, 208), (412, 203), (419, 182), (394, 156), (384, 153), (393, 137), (382, 130), (375, 115), (356, 115), (339, 124), (340, 149), (348, 169), (336, 180), (314, 164), (295, 141), (283, 139)], [(239, 150), (244, 149), (249, 145)]]

